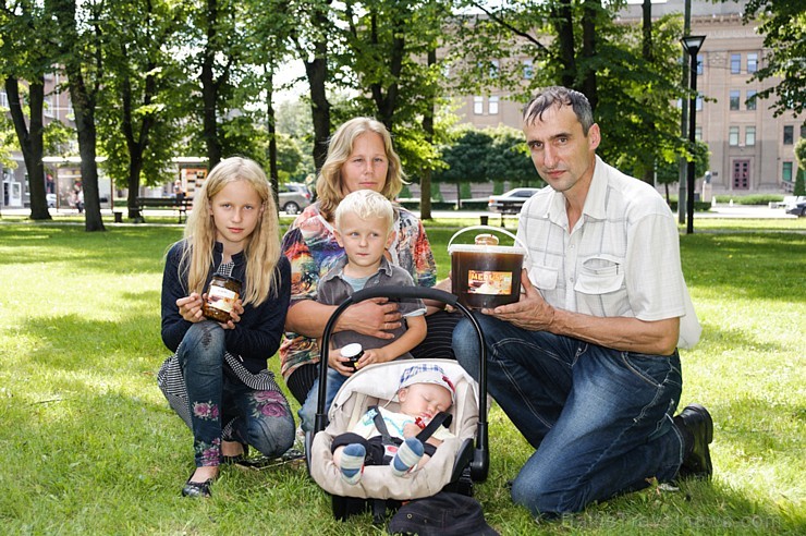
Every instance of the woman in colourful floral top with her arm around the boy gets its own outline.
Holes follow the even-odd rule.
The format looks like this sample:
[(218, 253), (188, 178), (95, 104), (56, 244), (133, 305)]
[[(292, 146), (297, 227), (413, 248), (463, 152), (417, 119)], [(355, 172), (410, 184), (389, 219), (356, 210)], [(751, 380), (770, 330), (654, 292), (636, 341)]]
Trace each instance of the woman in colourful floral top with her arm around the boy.
[[(286, 338), (280, 348), (282, 374), (294, 398), (304, 404), (317, 379), (321, 337), (335, 306), (316, 302), (319, 278), (344, 254), (333, 234), (333, 214), (339, 203), (356, 190), (374, 190), (393, 200), (403, 187), (400, 158), (382, 123), (356, 118), (333, 134), (328, 156), (316, 183), (317, 203), (308, 206), (289, 228), (282, 242), (283, 254), (291, 260), (291, 306), (285, 319)], [(395, 210), (395, 237), (388, 248), (392, 264), (408, 271), (415, 284), (433, 287), (437, 268), (423, 223), (404, 208)], [(448, 283), (450, 284), (450, 283)], [(428, 336), (412, 351), (415, 357), (453, 358), (451, 332), (456, 315), (441, 310), (442, 304), (427, 304)], [(401, 315), (386, 299), (367, 300), (350, 306), (335, 325), (335, 331), (389, 339), (389, 330), (400, 326)], [(316, 403), (316, 397), (313, 403)], [(312, 403), (308, 400), (308, 405)], [(303, 429), (313, 428), (301, 411)]]

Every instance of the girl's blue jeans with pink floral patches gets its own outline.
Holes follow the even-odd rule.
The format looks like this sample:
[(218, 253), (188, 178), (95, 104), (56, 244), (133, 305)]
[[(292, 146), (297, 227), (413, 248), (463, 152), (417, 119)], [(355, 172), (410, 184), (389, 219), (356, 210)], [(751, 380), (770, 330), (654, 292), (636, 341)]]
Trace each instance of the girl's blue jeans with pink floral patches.
[[(219, 465), (221, 440), (248, 443), (279, 456), (294, 442), (294, 417), (279, 391), (257, 391), (224, 367), (224, 330), (217, 322), (191, 326), (176, 350), (193, 425), (196, 466)], [(230, 423), (231, 437), (222, 437)]]

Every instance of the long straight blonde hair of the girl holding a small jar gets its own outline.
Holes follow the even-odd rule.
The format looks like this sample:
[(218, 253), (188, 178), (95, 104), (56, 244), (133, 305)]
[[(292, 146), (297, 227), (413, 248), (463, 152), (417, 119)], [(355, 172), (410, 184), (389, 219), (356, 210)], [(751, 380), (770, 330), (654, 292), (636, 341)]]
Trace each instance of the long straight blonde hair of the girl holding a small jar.
[(193, 211), (187, 217), (184, 237), (186, 247), (179, 264), (181, 275), (187, 273), (188, 292), (204, 292), (212, 266), (216, 244), (216, 223), (210, 215), (210, 200), (235, 181), (246, 181), (255, 188), (262, 204), (262, 214), (252, 232), (244, 256), (246, 257), (246, 281), (243, 281), (244, 304), (260, 305), (277, 292), (280, 284), (274, 268), (280, 259), (280, 234), (277, 206), (266, 173), (254, 160), (232, 157), (221, 160), (207, 176), (200, 190), (193, 196)]

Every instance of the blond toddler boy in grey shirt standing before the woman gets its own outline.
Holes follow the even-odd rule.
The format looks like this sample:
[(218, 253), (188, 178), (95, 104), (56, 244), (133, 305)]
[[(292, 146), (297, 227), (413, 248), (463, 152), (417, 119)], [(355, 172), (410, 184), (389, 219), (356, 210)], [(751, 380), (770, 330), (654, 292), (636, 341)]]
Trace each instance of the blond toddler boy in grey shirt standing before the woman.
[[(371, 190), (358, 190), (344, 197), (335, 209), (335, 236), (346, 254), (319, 281), (317, 301), (328, 305), (341, 304), (364, 288), (414, 287), (412, 276), (392, 265), (384, 256), (392, 243), (394, 209), (381, 194)], [(331, 337), (328, 352), (328, 388), (326, 409), (335, 398), (339, 388), (356, 370), (373, 363), (384, 363), (399, 357), (411, 358), (408, 353), (426, 337), (425, 305), (422, 300), (401, 301), (398, 312), (403, 316), (401, 326), (389, 330), (391, 339), (379, 339), (356, 331), (337, 331)], [(341, 355), (341, 349), (358, 343), (364, 350), (353, 368), (350, 360)], [(303, 429), (313, 428), (316, 415), (318, 389), (310, 394), (300, 410)]]

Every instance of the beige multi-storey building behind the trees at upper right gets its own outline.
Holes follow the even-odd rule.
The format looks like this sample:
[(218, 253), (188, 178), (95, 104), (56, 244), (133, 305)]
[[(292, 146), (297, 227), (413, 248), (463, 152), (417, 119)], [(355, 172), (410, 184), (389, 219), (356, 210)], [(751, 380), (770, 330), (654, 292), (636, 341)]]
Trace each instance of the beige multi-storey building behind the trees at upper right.
[[(756, 24), (742, 23), (742, 1), (711, 3), (692, 0), (692, 35), (706, 40), (698, 54), (697, 90), (706, 98), (696, 102), (695, 136), (710, 149), (713, 194), (790, 193), (797, 173), (794, 146), (806, 136), (806, 118), (793, 112), (772, 117), (769, 100), (747, 103), (748, 97), (774, 86), (774, 80), (749, 82), (761, 68), (767, 50)], [(684, 0), (652, 2), (652, 16), (683, 13)], [(640, 24), (639, 4), (628, 5), (620, 21)], [(682, 52), (681, 52), (682, 53)], [(528, 75), (528, 65), (524, 69)], [(523, 103), (505, 93), (459, 99), (457, 114), (474, 126), (521, 126)], [(704, 178), (698, 178), (700, 192)]]

